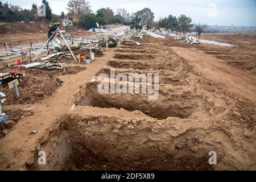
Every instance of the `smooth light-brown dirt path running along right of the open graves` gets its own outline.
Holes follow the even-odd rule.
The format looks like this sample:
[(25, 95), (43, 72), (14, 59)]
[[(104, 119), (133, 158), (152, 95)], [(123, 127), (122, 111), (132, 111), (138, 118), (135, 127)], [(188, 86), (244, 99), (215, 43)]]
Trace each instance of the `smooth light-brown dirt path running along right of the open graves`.
[(221, 60), (201, 52), (199, 49), (172, 47), (184, 59), (190, 61), (196, 70), (207, 79), (236, 93), (249, 101), (256, 102), (256, 79), (240, 69), (234, 68)]

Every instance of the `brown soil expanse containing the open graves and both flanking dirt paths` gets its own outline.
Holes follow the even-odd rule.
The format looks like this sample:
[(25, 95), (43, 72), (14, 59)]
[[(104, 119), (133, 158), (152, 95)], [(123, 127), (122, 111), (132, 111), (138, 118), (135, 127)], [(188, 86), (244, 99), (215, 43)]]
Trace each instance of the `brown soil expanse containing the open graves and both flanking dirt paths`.
[[(109, 49), (77, 75), (59, 75), (59, 89), (34, 108), (6, 106), (30, 107), (33, 115), (0, 140), (0, 169), (255, 170), (255, 75), (195, 49), (200, 46), (142, 41), (120, 46), (129, 52)], [(90, 81), (109, 76), (112, 67), (115, 74), (159, 73), (158, 99), (98, 93), (99, 81)], [(39, 151), (46, 152), (46, 165), (38, 165)], [(217, 165), (209, 165), (210, 151), (217, 152)]]

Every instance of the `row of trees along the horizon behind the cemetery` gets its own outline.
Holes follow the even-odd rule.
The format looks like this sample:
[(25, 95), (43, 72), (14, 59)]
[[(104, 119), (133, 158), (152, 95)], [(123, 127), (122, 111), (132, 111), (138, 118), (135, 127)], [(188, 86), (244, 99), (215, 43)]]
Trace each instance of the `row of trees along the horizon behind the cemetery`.
[[(46, 19), (63, 19), (65, 14), (62, 11), (60, 16), (52, 13), (48, 1), (43, 0), (46, 5)], [(22, 9), (20, 6), (9, 5), (7, 2), (0, 1), (0, 21), (19, 21), (19, 20), (35, 20), (38, 19), (38, 6), (34, 3), (30, 10)], [(135, 13), (128, 13), (126, 9), (119, 8), (117, 13), (114, 13), (109, 7), (102, 8), (93, 13), (91, 6), (86, 0), (69, 0), (67, 4), (68, 15), (76, 15), (80, 19), (79, 26), (85, 29), (93, 28), (96, 23), (110, 24), (121, 23), (132, 25), (131, 27), (141, 28), (146, 25), (150, 27), (164, 27), (172, 31), (187, 32), (193, 27), (192, 19), (185, 15), (176, 16), (169, 15), (165, 18), (160, 18), (158, 22), (154, 22), (154, 13), (149, 8), (144, 8)], [(198, 28), (198, 27), (197, 27)]]

